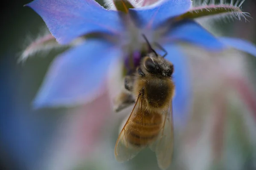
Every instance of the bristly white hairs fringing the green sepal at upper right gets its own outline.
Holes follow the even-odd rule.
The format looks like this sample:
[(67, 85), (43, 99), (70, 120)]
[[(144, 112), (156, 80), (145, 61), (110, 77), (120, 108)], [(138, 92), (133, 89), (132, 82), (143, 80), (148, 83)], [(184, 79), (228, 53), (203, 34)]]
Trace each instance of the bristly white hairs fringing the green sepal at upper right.
[[(242, 18), (244, 18), (246, 22), (248, 21), (247, 18), (251, 17), (249, 13), (242, 11), (241, 6), (244, 1), (245, 0), (231, 0), (230, 3), (226, 3), (225, 0), (220, 0), (219, 3), (216, 3), (215, 0), (204, 0), (203, 2), (201, 2), (200, 0), (193, 1), (193, 7), (190, 11), (198, 13), (203, 9), (206, 9), (207, 11), (217, 11), (218, 9), (224, 8), (227, 10), (226, 12), (210, 15), (210, 19), (230, 22), (234, 19), (242, 20)], [(209, 19), (209, 17), (205, 16), (204, 18)]]

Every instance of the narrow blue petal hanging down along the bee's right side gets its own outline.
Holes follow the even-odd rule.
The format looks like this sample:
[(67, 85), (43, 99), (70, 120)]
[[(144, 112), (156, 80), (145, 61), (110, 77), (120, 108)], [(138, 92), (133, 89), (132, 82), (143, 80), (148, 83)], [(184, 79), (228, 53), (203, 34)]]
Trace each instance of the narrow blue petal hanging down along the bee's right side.
[(187, 59), (177, 45), (164, 45), (163, 48), (168, 52), (166, 59), (174, 65), (175, 97), (173, 99), (173, 116), (176, 120), (182, 118), (184, 121), (183, 118), (186, 118), (189, 111), (191, 95)]

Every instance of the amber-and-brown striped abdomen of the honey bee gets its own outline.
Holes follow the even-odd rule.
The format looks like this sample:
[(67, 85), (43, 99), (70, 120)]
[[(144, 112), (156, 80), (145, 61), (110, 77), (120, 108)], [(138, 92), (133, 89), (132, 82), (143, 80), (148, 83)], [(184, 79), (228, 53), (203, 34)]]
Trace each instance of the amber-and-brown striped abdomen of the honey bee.
[(160, 132), (162, 125), (162, 115), (159, 113), (141, 111), (132, 119), (125, 128), (127, 142), (141, 147), (154, 142)]

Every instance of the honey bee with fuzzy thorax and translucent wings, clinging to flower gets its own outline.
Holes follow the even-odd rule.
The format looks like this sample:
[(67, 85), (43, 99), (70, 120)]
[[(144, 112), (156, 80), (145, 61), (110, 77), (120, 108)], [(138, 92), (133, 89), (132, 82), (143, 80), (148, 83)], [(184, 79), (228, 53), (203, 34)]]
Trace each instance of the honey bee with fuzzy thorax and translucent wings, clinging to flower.
[(143, 37), (150, 52), (141, 58), (134, 74), (125, 77), (126, 97), (116, 111), (129, 103), (135, 104), (116, 141), (115, 157), (119, 162), (128, 161), (143, 148), (150, 147), (157, 156), (158, 166), (164, 170), (171, 164), (174, 142), (174, 66), (164, 59), (167, 52), (163, 48), (166, 54), (160, 56)]

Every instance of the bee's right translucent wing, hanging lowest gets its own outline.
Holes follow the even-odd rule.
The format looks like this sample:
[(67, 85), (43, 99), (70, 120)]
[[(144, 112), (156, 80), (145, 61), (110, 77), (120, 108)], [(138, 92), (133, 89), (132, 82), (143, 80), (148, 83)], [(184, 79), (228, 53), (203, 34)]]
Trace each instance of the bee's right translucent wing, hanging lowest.
[(173, 116), (172, 116), (172, 101), (170, 102), (169, 110), (163, 113), (163, 127), (157, 136), (157, 140), (149, 147), (156, 153), (157, 163), (162, 170), (169, 167), (172, 162), (173, 152)]

